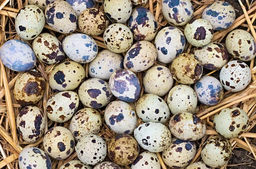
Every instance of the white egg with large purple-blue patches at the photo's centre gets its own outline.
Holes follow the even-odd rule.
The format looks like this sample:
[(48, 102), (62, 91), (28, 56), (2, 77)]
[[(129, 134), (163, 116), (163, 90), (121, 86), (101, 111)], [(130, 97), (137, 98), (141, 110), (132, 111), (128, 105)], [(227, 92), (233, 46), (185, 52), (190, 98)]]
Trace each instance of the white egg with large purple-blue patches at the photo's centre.
[(139, 79), (127, 69), (119, 69), (111, 74), (109, 88), (116, 98), (125, 102), (134, 102), (140, 97)]

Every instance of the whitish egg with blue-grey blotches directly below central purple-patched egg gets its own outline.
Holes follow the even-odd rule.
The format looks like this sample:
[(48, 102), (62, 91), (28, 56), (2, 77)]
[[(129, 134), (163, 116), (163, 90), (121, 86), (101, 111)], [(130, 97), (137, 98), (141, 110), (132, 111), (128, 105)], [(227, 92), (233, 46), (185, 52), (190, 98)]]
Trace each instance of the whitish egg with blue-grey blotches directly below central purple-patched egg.
[(117, 134), (131, 135), (137, 126), (135, 110), (124, 101), (113, 101), (105, 109), (105, 122)]

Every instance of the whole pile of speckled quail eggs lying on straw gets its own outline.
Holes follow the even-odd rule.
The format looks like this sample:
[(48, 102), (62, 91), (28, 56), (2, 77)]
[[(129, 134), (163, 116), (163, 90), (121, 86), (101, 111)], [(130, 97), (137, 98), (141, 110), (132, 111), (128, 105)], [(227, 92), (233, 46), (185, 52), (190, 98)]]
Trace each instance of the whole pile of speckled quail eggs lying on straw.
[[(28, 2), (15, 19), (17, 34), (26, 41), (9, 40), (0, 50), (7, 68), (23, 72), (13, 90), (23, 106), (17, 116), (18, 132), (27, 143), (43, 137), (42, 149), (26, 147), (20, 152), (20, 169), (51, 169), (50, 158), (65, 160), (74, 152), (78, 160), (60, 169), (160, 169), (160, 156), (175, 169), (215, 168), (229, 161), (228, 139), (239, 137), (249, 124), (247, 113), (238, 107), (214, 116), (219, 135), (203, 144), (202, 161), (190, 164), (197, 151), (195, 141), (206, 132), (204, 121), (194, 115), (198, 101), (216, 105), (224, 90), (239, 92), (251, 81), (244, 63), (256, 56), (250, 33), (237, 29), (227, 35), (225, 44), (211, 42), (214, 31), (234, 22), (233, 6), (214, 2), (202, 18), (193, 19), (190, 0), (163, 0), (163, 16), (172, 26), (161, 29), (154, 14), (142, 7), (148, 0)], [(97, 3), (104, 10), (95, 8)], [(42, 33), (45, 21), (67, 36), (60, 40)], [(73, 33), (78, 27), (83, 33)], [(94, 36), (100, 36), (107, 49), (99, 48)], [(184, 52), (186, 43), (193, 46), (190, 53)], [(235, 60), (229, 61), (230, 56)], [(34, 70), (37, 62), (56, 64), (48, 81)], [(202, 76), (203, 69), (220, 70), (219, 80)], [(175, 80), (180, 84), (174, 86)], [(36, 103), (47, 83), (56, 94), (43, 111)], [(55, 126), (44, 131), (47, 118)], [(57, 125), (65, 122), (65, 127)], [(111, 140), (98, 136), (103, 125), (116, 133)], [(107, 156), (111, 161), (105, 161)]]

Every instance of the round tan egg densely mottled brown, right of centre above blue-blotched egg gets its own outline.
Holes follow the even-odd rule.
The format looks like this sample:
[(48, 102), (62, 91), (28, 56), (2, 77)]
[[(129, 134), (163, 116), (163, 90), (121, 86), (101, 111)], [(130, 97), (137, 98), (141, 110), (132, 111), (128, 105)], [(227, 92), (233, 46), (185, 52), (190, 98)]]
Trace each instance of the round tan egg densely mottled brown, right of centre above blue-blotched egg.
[(201, 78), (203, 66), (194, 54), (183, 53), (172, 61), (171, 72), (177, 82), (193, 84)]

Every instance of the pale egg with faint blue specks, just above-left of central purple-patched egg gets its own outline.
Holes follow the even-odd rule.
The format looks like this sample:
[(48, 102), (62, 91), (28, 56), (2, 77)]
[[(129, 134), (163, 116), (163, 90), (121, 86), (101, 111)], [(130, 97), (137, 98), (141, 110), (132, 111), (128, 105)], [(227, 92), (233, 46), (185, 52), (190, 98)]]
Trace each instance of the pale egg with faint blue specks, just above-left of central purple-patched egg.
[(88, 72), (90, 77), (109, 80), (114, 71), (123, 68), (123, 61), (121, 54), (105, 49), (90, 62)]

